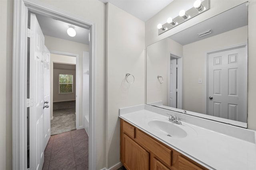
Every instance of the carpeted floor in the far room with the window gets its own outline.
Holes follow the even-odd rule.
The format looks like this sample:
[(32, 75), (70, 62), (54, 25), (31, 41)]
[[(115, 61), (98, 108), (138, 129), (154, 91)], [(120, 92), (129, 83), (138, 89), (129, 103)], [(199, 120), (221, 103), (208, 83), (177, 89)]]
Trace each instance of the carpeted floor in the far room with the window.
[(53, 106), (51, 120), (51, 135), (56, 135), (76, 129), (76, 102), (58, 102)]

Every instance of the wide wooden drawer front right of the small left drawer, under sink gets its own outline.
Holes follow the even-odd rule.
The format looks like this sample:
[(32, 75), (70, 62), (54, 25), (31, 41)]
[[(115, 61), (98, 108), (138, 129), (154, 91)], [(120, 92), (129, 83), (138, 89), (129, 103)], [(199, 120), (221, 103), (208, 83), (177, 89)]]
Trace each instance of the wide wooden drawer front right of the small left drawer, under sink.
[(153, 152), (162, 162), (168, 166), (172, 166), (172, 150), (165, 147), (152, 137), (146, 135), (144, 132), (137, 130), (136, 139), (142, 146), (148, 148)]

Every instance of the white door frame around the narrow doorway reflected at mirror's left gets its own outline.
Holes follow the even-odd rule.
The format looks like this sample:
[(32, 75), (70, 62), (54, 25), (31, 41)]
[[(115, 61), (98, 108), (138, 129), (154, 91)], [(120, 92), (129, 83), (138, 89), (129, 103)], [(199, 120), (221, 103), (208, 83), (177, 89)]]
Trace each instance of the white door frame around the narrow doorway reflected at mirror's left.
[(178, 55), (174, 55), (172, 54), (171, 52), (169, 52), (169, 55), (168, 55), (168, 71), (167, 71), (167, 78), (168, 78), (168, 104), (169, 104), (169, 100), (170, 100), (170, 64), (171, 64), (171, 57), (173, 58), (176, 58), (178, 59), (177, 62), (178, 62), (178, 69), (177, 69), (177, 89), (178, 89), (178, 92), (177, 92), (177, 108), (178, 109), (182, 109), (182, 65), (183, 65), (183, 59), (182, 57), (179, 57)]

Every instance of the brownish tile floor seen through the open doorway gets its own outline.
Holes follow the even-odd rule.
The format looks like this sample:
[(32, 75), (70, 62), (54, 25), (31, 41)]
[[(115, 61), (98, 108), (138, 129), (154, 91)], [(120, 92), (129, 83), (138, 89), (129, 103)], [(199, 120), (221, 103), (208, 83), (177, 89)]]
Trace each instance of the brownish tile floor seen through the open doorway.
[(43, 170), (88, 170), (88, 135), (84, 129), (53, 135), (44, 150)]

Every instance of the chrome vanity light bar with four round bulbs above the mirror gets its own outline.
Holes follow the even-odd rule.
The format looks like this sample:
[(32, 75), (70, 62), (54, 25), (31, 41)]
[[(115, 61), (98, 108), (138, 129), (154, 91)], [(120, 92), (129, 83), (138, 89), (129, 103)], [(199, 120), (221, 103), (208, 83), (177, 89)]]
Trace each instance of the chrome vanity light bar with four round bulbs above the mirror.
[(158, 24), (158, 35), (180, 25), (181, 23), (190, 20), (191, 18), (202, 14), (203, 12), (210, 9), (210, 0), (196, 0), (194, 5), (191, 4), (191, 8), (188, 10), (181, 10), (179, 15), (175, 18), (168, 18), (167, 22), (164, 24)]

